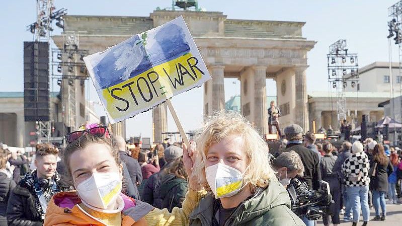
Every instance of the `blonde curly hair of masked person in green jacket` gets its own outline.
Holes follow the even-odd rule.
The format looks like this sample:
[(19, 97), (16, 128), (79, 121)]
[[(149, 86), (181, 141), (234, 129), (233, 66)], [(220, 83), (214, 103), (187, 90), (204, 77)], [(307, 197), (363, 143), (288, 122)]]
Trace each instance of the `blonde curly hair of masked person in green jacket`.
[(206, 190), (211, 190), (205, 177), (206, 155), (211, 145), (230, 135), (243, 138), (243, 151), (248, 166), (244, 173), (245, 183), (250, 183), (253, 188), (267, 187), (268, 181), (276, 178), (268, 162), (268, 145), (247, 119), (235, 112), (215, 114), (197, 131), (193, 175), (198, 179), (198, 183)]

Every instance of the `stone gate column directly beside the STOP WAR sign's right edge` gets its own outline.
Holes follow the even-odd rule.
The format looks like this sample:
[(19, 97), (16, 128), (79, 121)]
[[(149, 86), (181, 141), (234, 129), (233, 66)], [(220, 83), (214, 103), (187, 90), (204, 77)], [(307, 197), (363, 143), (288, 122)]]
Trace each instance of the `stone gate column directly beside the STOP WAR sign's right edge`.
[[(224, 68), (223, 65), (213, 65), (210, 67), (212, 77), (212, 111), (225, 110), (225, 87), (224, 87)], [(209, 87), (210, 88), (210, 87)], [(211, 112), (209, 113), (211, 115)]]

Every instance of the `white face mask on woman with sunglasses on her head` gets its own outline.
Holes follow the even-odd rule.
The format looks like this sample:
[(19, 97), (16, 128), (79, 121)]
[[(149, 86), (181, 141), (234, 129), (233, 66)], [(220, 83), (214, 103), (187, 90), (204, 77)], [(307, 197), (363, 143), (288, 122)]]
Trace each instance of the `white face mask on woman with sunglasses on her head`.
[[(94, 173), (78, 184), (77, 192), (82, 202), (90, 206), (106, 209), (116, 201), (122, 187), (118, 173)], [(89, 207), (90, 207), (89, 206)]]

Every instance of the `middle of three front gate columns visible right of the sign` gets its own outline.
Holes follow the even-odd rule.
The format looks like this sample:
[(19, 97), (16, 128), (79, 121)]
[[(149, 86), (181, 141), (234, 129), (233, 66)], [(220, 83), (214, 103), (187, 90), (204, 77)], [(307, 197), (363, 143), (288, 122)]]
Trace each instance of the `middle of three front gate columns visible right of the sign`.
[(267, 133), (267, 67), (254, 67), (254, 127), (261, 135)]

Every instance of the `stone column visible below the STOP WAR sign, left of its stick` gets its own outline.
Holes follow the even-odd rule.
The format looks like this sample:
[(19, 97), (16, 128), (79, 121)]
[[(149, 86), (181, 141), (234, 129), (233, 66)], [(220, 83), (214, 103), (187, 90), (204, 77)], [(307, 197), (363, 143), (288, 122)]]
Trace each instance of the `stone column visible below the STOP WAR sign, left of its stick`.
[(152, 109), (153, 142), (163, 142), (168, 131), (168, 111), (166, 103)]

